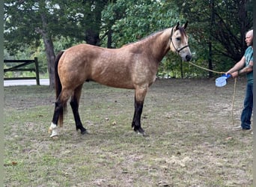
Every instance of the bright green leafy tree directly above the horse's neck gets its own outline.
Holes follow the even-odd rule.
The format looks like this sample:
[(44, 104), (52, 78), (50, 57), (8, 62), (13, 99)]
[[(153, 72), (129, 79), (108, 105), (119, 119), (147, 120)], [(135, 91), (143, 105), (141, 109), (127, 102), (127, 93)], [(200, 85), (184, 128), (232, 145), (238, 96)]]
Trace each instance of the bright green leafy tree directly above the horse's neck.
[[(184, 21), (174, 4), (165, 1), (117, 0), (103, 11), (103, 24), (112, 25), (112, 47), (140, 40), (148, 34)], [(106, 28), (108, 30), (109, 28)]]

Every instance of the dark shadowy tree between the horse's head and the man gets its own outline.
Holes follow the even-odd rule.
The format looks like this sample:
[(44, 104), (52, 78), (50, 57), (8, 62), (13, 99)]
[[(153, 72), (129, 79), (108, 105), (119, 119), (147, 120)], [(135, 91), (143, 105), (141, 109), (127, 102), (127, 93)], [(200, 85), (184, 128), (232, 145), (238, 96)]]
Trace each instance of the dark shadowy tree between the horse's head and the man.
[[(208, 48), (210, 69), (216, 67), (223, 71), (240, 60), (246, 49), (245, 33), (252, 28), (252, 1), (175, 0), (175, 4), (192, 24), (190, 30), (198, 44), (198, 56), (204, 55)], [(222, 64), (223, 60), (231, 63)]]

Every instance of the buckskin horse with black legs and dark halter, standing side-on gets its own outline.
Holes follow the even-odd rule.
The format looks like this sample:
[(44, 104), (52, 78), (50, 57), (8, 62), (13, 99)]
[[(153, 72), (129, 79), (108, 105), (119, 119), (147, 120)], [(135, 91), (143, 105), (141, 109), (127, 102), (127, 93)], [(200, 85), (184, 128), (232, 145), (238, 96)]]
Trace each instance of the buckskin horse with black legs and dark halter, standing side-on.
[[(79, 116), (79, 99), (85, 82), (94, 81), (113, 88), (135, 90), (132, 129), (145, 135), (141, 128), (141, 113), (144, 97), (150, 85), (156, 80), (159, 63), (168, 51), (180, 55), (183, 61), (190, 61), (186, 27), (165, 28), (135, 43), (128, 43), (118, 49), (106, 49), (89, 44), (78, 44), (61, 51), (55, 58), (55, 108), (49, 126), (50, 137), (58, 136), (58, 126), (63, 126), (67, 101), (73, 111), (76, 130), (87, 132)], [(57, 137), (58, 138), (58, 137)]]

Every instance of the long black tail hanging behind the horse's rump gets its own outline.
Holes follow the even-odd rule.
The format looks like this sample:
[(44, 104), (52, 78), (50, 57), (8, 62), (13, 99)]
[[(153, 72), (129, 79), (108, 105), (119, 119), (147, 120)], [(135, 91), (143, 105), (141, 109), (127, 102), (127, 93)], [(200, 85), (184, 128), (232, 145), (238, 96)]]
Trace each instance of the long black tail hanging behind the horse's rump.
[[(64, 51), (61, 51), (58, 53), (58, 55), (55, 58), (55, 94), (56, 94), (56, 99), (59, 99), (58, 96), (61, 93), (62, 90), (62, 85), (60, 81), (60, 77), (58, 76), (58, 61), (61, 58), (61, 55), (63, 55)], [(60, 100), (61, 102), (61, 100)], [(67, 108), (67, 103), (61, 103), (63, 106), (63, 109), (60, 111), (59, 117), (58, 117), (58, 125), (63, 126), (63, 113), (66, 111)]]

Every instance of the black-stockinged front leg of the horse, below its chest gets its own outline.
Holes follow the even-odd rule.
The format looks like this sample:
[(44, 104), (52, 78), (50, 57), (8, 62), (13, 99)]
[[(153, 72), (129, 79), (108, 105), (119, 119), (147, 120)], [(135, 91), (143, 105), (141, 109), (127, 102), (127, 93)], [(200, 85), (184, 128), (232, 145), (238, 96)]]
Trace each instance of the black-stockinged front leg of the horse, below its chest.
[(145, 136), (144, 130), (141, 128), (141, 114), (143, 110), (144, 97), (146, 96), (147, 88), (135, 89), (134, 115), (132, 119), (132, 128), (138, 134)]

